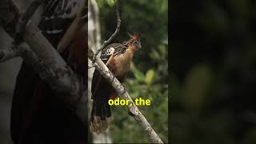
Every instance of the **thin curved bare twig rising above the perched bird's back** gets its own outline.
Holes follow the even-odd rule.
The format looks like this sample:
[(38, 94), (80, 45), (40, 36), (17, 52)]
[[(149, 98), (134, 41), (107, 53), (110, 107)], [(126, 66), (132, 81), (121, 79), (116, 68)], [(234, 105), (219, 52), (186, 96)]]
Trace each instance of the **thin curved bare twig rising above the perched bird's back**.
[(92, 60), (93, 63), (95, 62), (95, 59), (98, 56), (99, 52), (101, 52), (104, 49), (104, 47), (106, 47), (108, 44), (110, 44), (110, 42), (115, 38), (115, 36), (118, 34), (118, 32), (120, 30), (121, 19), (120, 19), (120, 15), (119, 15), (119, 11), (118, 11), (118, 2), (116, 2), (116, 13), (117, 13), (117, 18), (118, 18), (118, 26), (117, 26), (116, 30), (114, 31), (114, 34), (112, 34), (111, 37), (107, 41), (104, 41), (101, 48), (97, 50), (96, 54), (94, 54), (94, 58)]

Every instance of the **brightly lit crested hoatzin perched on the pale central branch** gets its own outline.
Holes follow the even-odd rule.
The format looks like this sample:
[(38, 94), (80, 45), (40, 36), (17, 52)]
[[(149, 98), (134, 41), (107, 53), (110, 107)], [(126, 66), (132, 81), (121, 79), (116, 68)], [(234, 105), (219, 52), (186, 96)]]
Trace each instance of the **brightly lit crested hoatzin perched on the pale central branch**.
[[(134, 52), (141, 48), (140, 34), (130, 35), (130, 40), (113, 43), (102, 50), (101, 59), (120, 82), (130, 70)], [(90, 129), (102, 133), (109, 126), (111, 112), (108, 100), (117, 96), (116, 91), (105, 78), (94, 70), (91, 85), (93, 108), (90, 115)]]

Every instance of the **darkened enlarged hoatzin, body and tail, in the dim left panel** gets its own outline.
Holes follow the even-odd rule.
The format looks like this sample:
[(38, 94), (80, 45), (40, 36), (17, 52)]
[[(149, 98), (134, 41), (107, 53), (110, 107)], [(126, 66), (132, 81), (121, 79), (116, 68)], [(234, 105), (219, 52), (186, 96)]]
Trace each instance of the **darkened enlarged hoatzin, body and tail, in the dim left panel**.
[[(48, 0), (38, 28), (78, 74), (87, 78), (87, 0)], [(87, 142), (86, 123), (22, 62), (11, 107), (11, 138), (14, 144), (82, 144)], [(86, 112), (85, 112), (86, 113)]]

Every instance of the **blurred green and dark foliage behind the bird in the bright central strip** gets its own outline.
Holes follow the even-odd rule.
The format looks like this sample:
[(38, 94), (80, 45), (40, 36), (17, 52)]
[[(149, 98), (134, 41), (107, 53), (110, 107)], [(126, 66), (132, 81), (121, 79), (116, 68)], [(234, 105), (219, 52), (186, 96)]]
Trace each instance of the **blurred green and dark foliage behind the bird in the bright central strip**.
[[(114, 0), (98, 0), (102, 42), (114, 33), (117, 25)], [(129, 40), (141, 33), (142, 49), (134, 55), (131, 72), (124, 85), (133, 99), (151, 100), (150, 106), (138, 106), (163, 141), (168, 142), (168, 1), (118, 1), (121, 29), (114, 42)], [(110, 126), (113, 142), (150, 142), (125, 106), (112, 107)]]

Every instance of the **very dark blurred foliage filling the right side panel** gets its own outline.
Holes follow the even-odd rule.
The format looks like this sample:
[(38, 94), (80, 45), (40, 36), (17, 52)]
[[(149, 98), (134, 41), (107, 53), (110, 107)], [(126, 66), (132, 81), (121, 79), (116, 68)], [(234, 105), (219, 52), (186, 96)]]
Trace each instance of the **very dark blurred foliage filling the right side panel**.
[(172, 143), (256, 143), (256, 1), (172, 1)]

